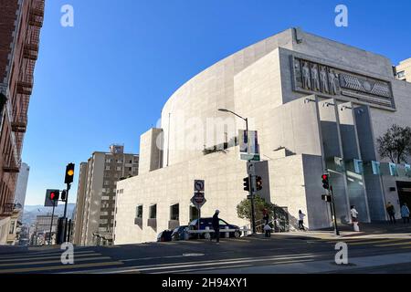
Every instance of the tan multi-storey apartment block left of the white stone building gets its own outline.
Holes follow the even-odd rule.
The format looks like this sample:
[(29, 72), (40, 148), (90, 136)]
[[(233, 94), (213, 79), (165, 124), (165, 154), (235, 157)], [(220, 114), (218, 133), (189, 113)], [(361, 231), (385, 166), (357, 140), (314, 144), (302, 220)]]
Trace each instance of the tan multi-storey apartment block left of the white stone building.
[(139, 155), (112, 145), (80, 164), (75, 213), (75, 245), (111, 245), (118, 181), (138, 174)]

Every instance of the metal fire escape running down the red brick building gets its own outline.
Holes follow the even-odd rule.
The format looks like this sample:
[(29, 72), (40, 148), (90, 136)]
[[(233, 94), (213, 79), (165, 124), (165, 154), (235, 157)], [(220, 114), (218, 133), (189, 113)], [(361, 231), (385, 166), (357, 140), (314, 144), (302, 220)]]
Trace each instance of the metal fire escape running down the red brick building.
[(27, 127), (27, 111), (30, 95), (33, 90), (33, 75), (38, 57), (40, 29), (43, 26), (45, 0), (33, 0), (29, 7), (28, 27), (23, 48), (23, 60), (17, 82), (16, 107), (13, 110), (11, 128), (15, 136), (14, 152), (5, 163), (4, 171), (17, 173), (20, 170), (21, 151)]

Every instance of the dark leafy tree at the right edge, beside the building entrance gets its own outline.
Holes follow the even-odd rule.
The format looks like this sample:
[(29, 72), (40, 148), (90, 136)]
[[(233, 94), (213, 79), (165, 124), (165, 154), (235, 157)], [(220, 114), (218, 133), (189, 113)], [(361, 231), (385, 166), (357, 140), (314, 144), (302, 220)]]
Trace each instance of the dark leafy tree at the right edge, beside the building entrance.
[(377, 139), (381, 158), (388, 158), (393, 163), (406, 162), (411, 155), (411, 128), (396, 124)]

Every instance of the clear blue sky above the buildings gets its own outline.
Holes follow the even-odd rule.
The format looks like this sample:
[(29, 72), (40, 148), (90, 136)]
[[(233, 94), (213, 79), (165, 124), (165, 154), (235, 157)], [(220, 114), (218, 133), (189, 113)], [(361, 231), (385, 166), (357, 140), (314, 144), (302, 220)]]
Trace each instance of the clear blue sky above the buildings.
[[(175, 89), (223, 57), (292, 26), (389, 57), (411, 57), (410, 1), (48, 0), (23, 161), (26, 204), (113, 142), (139, 151)], [(114, 3), (114, 4), (113, 4)], [(72, 5), (74, 27), (60, 26)], [(334, 25), (347, 5), (349, 26)], [(69, 201), (75, 202), (77, 183)]]

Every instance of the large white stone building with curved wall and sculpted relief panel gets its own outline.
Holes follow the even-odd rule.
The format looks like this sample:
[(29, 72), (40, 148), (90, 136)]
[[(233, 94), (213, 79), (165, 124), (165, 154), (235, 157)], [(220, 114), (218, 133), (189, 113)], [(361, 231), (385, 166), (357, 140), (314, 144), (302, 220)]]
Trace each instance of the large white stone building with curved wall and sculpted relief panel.
[(185, 83), (164, 105), (161, 127), (142, 135), (139, 176), (117, 184), (114, 244), (155, 241), (175, 218), (187, 224), (198, 179), (202, 216), (219, 209), (227, 222), (249, 224), (237, 216), (248, 194), (237, 137), (246, 125), (219, 109), (258, 131), (258, 195), (286, 224), (301, 210), (310, 229), (332, 225), (324, 172), (340, 223), (351, 221), (351, 205), (362, 222), (385, 220), (385, 203), (411, 203), (411, 173), (382, 159), (376, 139), (394, 123), (411, 125), (410, 99), (411, 84), (395, 78), (388, 58), (300, 28), (247, 47)]

